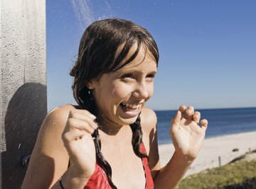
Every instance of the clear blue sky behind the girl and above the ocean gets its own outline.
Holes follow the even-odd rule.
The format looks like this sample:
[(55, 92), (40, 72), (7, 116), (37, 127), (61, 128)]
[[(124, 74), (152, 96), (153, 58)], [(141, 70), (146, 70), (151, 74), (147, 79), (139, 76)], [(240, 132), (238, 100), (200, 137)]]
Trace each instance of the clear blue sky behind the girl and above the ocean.
[(46, 0), (48, 110), (75, 103), (69, 71), (80, 37), (112, 17), (142, 25), (158, 44), (150, 108), (256, 107), (255, 9), (253, 0)]

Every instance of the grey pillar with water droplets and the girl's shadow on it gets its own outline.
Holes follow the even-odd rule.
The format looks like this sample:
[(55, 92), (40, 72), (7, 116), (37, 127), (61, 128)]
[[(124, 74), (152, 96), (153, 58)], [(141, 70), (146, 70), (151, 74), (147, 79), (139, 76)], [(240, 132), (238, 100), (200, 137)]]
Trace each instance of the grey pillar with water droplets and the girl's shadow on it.
[(1, 0), (1, 188), (20, 188), (47, 113), (46, 1)]

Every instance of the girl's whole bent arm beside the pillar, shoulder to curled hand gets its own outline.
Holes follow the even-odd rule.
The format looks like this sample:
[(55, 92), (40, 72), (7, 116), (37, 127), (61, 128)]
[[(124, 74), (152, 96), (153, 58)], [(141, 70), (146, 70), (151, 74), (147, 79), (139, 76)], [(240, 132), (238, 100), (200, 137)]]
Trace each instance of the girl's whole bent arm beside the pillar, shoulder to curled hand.
[[(90, 124), (92, 124), (93, 119), (88, 118), (86, 114), (85, 116), (82, 115), (85, 118), (78, 118), (79, 113), (72, 114), (73, 111), (76, 111), (73, 106), (65, 105), (48, 113), (38, 133), (28, 171), (21, 188), (60, 188), (58, 180), (61, 176), (63, 176), (62, 182), (65, 188), (83, 188), (85, 186), (90, 174), (86, 174), (87, 169), (84, 167), (87, 164), (93, 165), (93, 160), (85, 159), (87, 161), (85, 163), (82, 161), (85, 166), (80, 166), (78, 162), (81, 162), (81, 156), (87, 155), (83, 153), (86, 146), (89, 149), (87, 153), (93, 156), (93, 148), (95, 147), (90, 133), (94, 129), (88, 129), (88, 127), (91, 127)], [(77, 118), (73, 118), (75, 116)], [(81, 122), (81, 120), (83, 121)], [(85, 125), (85, 122), (87, 122), (87, 125)], [(80, 128), (78, 129), (78, 127)], [(80, 139), (77, 139), (78, 137)], [(79, 144), (74, 141), (85, 143), (85, 147), (79, 149)], [(78, 151), (81, 153), (79, 154)], [(72, 161), (72, 164), (68, 168), (69, 161)]]

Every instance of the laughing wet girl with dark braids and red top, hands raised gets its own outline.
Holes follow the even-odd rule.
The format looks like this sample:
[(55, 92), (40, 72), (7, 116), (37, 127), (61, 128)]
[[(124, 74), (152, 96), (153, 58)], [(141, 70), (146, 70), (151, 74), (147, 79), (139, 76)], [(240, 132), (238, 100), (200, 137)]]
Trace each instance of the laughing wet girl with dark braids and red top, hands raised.
[(130, 21), (92, 23), (70, 75), (78, 105), (55, 108), (41, 126), (22, 188), (175, 188), (196, 158), (207, 120), (181, 105), (175, 152), (161, 168), (153, 94), (159, 52)]

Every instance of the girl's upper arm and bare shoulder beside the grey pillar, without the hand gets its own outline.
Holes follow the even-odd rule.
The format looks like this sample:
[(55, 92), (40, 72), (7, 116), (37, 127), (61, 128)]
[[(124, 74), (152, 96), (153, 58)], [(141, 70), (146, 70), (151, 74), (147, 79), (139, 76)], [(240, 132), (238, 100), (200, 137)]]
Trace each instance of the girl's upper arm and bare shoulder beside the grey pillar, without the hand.
[(38, 133), (21, 188), (50, 188), (67, 170), (69, 157), (61, 139), (67, 120), (68, 111), (63, 108), (48, 113)]

